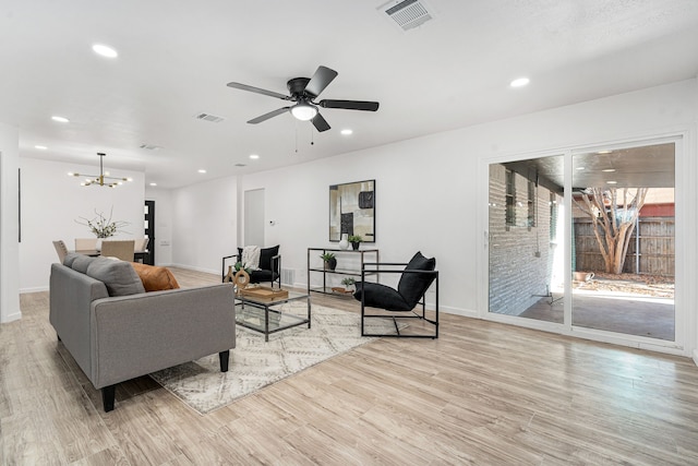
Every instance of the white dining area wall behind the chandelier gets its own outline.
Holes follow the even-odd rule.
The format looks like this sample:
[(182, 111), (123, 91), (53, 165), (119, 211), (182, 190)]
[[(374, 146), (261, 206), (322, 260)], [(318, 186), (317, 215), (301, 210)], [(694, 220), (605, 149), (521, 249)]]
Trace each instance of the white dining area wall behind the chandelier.
[(22, 243), (20, 244), (20, 289), (22, 292), (48, 289), (50, 264), (58, 261), (52, 241), (63, 240), (74, 249), (75, 238), (94, 238), (80, 217), (94, 218), (95, 211), (113, 220), (128, 222), (116, 238), (143, 238), (145, 198), (142, 172), (119, 170), (133, 181), (118, 188), (82, 187), (69, 171), (96, 172), (98, 166), (22, 157)]

